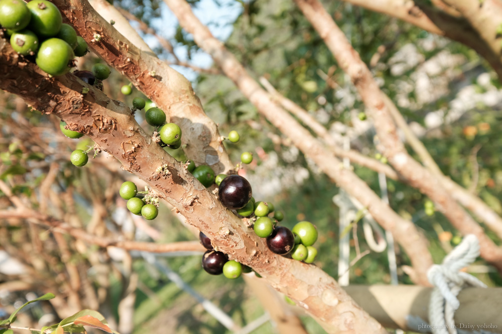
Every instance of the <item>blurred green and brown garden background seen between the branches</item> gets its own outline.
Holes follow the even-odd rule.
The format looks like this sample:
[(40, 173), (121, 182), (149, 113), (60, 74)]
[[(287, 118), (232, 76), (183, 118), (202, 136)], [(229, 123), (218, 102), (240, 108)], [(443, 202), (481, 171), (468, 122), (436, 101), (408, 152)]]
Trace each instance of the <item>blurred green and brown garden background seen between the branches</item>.
[[(114, 0), (112, 3), (156, 29), (172, 43), (178, 57), (201, 66), (194, 56), (201, 51), (189, 34), (176, 24), (165, 30), (161, 28), (166, 20), (173, 20), (161, 1)], [(206, 6), (217, 9), (223, 17), (225, 11), (233, 13), (226, 15), (227, 19), (236, 17), (231, 21), (215, 22), (209, 17), (210, 11), (201, 20), (205, 20), (212, 31), (229, 29), (230, 34), (223, 42), (249, 72), (257, 79), (260, 76), (267, 78), (281, 94), (308, 110), (335, 138), (349, 136), (353, 148), (372, 157), (379, 154), (374, 145), (371, 121), (358, 119), (358, 115), (364, 112), (360, 98), (321, 38), (292, 2), (201, 0), (190, 3), (194, 9), (200, 10), (199, 13), (204, 13)], [(463, 45), (396, 19), (343, 2), (325, 2), (324, 6), (333, 14), (383, 91), (417, 129), (443, 173), (482, 198), (497, 214), (502, 214), (502, 94), (498, 91), (500, 83), (485, 62)], [(153, 36), (145, 35), (145, 39), (159, 57), (173, 61), (166, 50), (156, 47), (158, 44)], [(97, 61), (89, 55), (84, 63), (79, 64), (80, 69), (89, 70)], [(232, 160), (239, 161), (243, 151), (254, 153), (254, 163), (244, 169), (255, 198), (271, 201), (276, 209), (282, 210), (285, 213), (282, 224), (287, 227), (291, 228), (300, 220), (313, 222), (320, 231), (316, 264), (337, 277), (339, 208), (333, 203), (333, 196), (339, 192), (337, 186), (260, 116), (226, 77), (184, 71), (188, 71), (184, 73), (192, 80), (207, 114), (219, 124), (221, 134), (230, 130), (240, 133), (238, 144), (225, 143)], [(105, 81), (105, 93), (131, 105), (132, 99), (141, 94), (134, 91), (131, 96), (121, 95), (120, 87), (124, 84), (128, 82), (113, 71), (110, 79)], [(82, 226), (87, 226), (94, 214), (92, 207), (101, 202), (105, 208), (102, 218), (108, 229), (136, 233), (136, 238), (148, 239), (147, 235), (134, 232), (125, 220), (121, 222), (122, 218), (117, 218), (117, 215), (121, 217), (120, 210), (124, 208), (117, 199), (118, 186), (129, 176), (120, 172), (110, 158), (101, 155), (85, 169), (74, 168), (68, 162), (71, 150), (92, 145), (89, 140), (84, 137), (75, 144), (75, 141), (64, 138), (58, 133), (56, 118), (30, 110), (14, 96), (2, 93), (0, 103), (0, 159), (3, 165), (0, 179), (15, 184), (17, 194), (26, 195), (37, 205), (38, 187), (47, 176), (51, 163), (56, 162), (60, 170), (51, 186), (54, 198), (49, 205), (50, 213), (62, 219), (76, 215)], [(153, 131), (143, 115), (137, 113), (137, 120), (148, 131)], [(186, 159), (183, 153), (170, 153), (179, 160)], [(380, 193), (375, 172), (357, 165), (354, 170), (376, 193)], [(391, 206), (400, 215), (413, 219), (427, 236), (434, 260), (440, 262), (461, 240), (459, 232), (438, 210), (426, 214), (428, 199), (417, 190), (393, 180), (388, 180), (388, 188)], [(55, 205), (52, 201), (58, 196), (63, 203)], [(63, 196), (74, 198), (74, 211)], [(0, 197), (0, 203), (6, 204), (5, 201), (5, 197)], [(152, 223), (161, 232), (159, 241), (195, 239), (169, 208), (164, 207), (160, 212), (159, 218)], [(10, 253), (10, 250), (22, 248), (24, 243), (32, 240), (29, 231), (22, 226), (7, 227), (3, 222), (0, 248)], [(361, 228), (357, 233), (361, 251), (368, 249)], [(500, 242), (490, 231), (487, 234)], [(354, 242), (351, 237), (352, 246)], [(53, 251), (51, 256), (58, 259), (60, 255)], [(179, 333), (227, 332), (195, 299), (144, 259), (133, 259), (127, 269), (120, 267), (105, 251), (90, 247), (87, 251), (96, 252), (101, 258), (96, 260), (90, 253), (76, 255), (79, 253), (75, 252), (73, 261), (91, 273), (96, 263), (107, 264), (104, 281), (100, 281), (97, 274), (91, 274), (89, 278), (96, 290), (100, 286), (109, 288), (109, 295), (99, 298), (100, 307), (107, 309), (109, 314), (118, 314), (118, 301), (127, 287), (124, 270), (138, 273), (135, 333), (165, 332), (167, 328)], [(400, 268), (408, 265), (409, 260), (399, 249), (397, 251), (400, 283), (411, 283)], [(222, 276), (208, 275), (201, 268), (200, 256), (169, 257), (164, 263), (227, 312), (238, 325), (263, 314), (262, 306), (242, 279), (230, 281)], [(502, 284), (498, 275), (482, 260), (476, 264), (480, 267), (476, 275), (489, 286)], [(46, 279), (50, 279), (50, 273), (57, 276), (64, 272), (60, 264), (44, 268), (48, 270), (43, 275)], [(350, 269), (350, 278), (353, 284), (389, 283), (386, 253), (370, 252), (362, 257)], [(0, 279), (6, 282), (13, 278), (4, 273)], [(103, 282), (106, 284), (101, 285)], [(59, 283), (56, 280), (54, 284)], [(24, 298), (21, 293), (0, 297), (6, 307), (10, 302)], [(37, 317), (37, 314), (33, 311), (33, 316)], [(302, 320), (309, 333), (324, 332), (308, 316), (302, 315)], [(256, 332), (273, 333), (275, 329), (268, 322)]]

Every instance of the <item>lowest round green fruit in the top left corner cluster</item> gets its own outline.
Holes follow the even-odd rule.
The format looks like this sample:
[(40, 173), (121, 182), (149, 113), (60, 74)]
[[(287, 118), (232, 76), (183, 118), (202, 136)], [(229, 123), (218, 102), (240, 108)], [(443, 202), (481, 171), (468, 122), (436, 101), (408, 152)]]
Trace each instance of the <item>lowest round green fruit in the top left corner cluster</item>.
[(73, 50), (68, 43), (58, 38), (51, 38), (40, 45), (36, 63), (45, 73), (60, 76), (70, 71), (73, 57)]

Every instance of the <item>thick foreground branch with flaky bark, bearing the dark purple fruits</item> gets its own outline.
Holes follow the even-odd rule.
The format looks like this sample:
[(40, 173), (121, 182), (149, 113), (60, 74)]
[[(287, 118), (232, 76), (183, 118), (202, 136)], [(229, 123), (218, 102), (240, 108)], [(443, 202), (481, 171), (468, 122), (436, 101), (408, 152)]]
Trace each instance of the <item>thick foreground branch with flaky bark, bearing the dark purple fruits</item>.
[[(92, 26), (86, 20), (82, 24)], [(177, 78), (170, 77), (169, 85), (176, 86)], [(84, 87), (89, 92), (81, 94)], [(315, 265), (272, 253), (243, 219), (224, 208), (214, 194), (152, 140), (123, 103), (110, 100), (72, 74), (49, 78), (17, 55), (3, 38), (0, 89), (19, 95), (43, 113), (57, 115), (73, 124), (73, 130), (89, 136), (124, 169), (144, 180), (160, 198), (179, 210), (187, 223), (212, 240), (215, 248), (254, 268), (274, 288), (302, 305), (328, 332), (386, 332), (333, 277)], [(166, 172), (158, 171), (161, 166)]]

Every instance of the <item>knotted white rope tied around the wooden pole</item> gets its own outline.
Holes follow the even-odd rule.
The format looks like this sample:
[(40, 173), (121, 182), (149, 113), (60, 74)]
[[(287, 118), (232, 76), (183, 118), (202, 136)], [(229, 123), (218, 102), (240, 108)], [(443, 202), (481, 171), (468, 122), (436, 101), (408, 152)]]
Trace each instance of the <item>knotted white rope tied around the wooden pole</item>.
[(429, 301), (429, 323), (433, 334), (457, 334), (454, 314), (460, 306), (457, 295), (465, 286), (486, 287), (476, 277), (459, 271), (479, 256), (479, 242), (475, 235), (465, 236), (448, 254), (442, 264), (433, 265), (427, 272), (434, 285)]

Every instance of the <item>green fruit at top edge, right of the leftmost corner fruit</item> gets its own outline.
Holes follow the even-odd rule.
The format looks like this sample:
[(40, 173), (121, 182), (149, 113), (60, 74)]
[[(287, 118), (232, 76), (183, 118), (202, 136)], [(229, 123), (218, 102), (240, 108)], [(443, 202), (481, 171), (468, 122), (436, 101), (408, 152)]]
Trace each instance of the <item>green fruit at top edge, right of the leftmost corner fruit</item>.
[(52, 37), (59, 33), (63, 18), (56, 5), (47, 0), (33, 0), (27, 6), (32, 14), (32, 32), (41, 37)]

